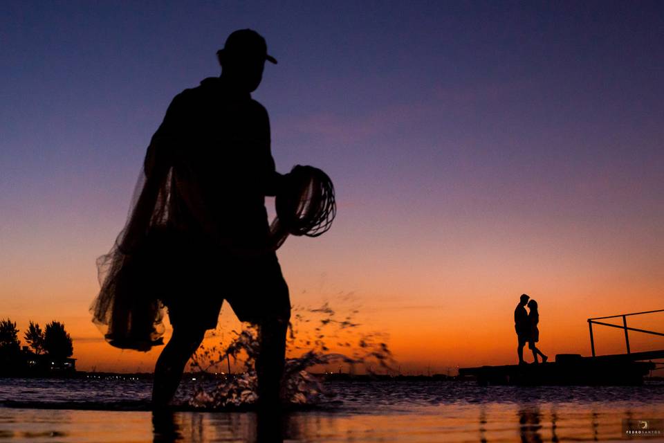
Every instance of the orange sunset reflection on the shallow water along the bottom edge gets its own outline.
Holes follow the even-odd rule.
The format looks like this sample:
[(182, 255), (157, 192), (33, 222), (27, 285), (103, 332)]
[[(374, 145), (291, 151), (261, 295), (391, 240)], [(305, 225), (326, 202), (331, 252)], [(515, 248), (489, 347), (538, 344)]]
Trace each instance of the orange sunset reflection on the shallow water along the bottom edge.
[(0, 437), (59, 442), (564, 442), (621, 440), (621, 420), (656, 404), (519, 402), (345, 405), (273, 414), (0, 408)]

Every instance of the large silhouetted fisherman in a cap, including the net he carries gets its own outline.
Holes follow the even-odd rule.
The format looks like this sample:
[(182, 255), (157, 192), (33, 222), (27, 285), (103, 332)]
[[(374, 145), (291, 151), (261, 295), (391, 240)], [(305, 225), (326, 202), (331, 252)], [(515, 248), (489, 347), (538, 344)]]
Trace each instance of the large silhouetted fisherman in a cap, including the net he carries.
[[(273, 409), (291, 316), (275, 250), (289, 234), (329, 229), (334, 190), (316, 168), (275, 170), (268, 113), (250, 95), (265, 62), (277, 63), (265, 39), (237, 30), (217, 56), (221, 75), (179, 93), (151, 139), (129, 220), (98, 260), (102, 287), (91, 311), (111, 345), (146, 351), (163, 344), (167, 307), (173, 334), (152, 396), (161, 407), (227, 300), (239, 320), (259, 327), (259, 406)], [(276, 197), (271, 225), (266, 196)]]

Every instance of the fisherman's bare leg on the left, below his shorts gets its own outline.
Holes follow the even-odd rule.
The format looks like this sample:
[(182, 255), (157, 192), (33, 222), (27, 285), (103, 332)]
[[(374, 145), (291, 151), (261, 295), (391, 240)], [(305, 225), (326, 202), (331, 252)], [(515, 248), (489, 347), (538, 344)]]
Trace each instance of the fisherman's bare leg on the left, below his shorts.
[(167, 406), (180, 385), (182, 373), (190, 357), (201, 345), (205, 329), (174, 327), (173, 336), (164, 347), (154, 367), (152, 405)]

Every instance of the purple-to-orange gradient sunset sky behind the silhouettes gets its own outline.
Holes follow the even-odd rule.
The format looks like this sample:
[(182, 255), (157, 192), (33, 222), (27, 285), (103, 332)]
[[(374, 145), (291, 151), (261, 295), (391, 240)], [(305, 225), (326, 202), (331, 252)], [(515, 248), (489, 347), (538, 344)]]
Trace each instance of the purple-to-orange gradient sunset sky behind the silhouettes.
[(515, 361), (523, 292), (551, 355), (589, 354), (591, 316), (664, 308), (662, 2), (3, 1), (0, 317), (21, 337), (60, 320), (79, 369), (151, 370), (159, 350), (90, 321), (95, 257), (170, 100), (238, 28), (279, 60), (253, 94), (277, 169), (337, 192), (329, 233), (279, 250), (294, 305), (358, 309), (403, 371), (439, 372)]

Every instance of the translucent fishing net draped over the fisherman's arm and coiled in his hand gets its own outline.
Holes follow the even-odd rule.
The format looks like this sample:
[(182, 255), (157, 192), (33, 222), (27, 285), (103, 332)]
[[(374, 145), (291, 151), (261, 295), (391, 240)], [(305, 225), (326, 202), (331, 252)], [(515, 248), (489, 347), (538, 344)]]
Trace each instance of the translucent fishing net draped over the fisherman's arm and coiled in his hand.
[[(168, 279), (181, 269), (182, 260), (173, 256), (174, 233), (187, 233), (192, 213), (203, 224), (212, 218), (190, 165), (167, 150), (160, 156), (148, 151), (127, 224), (111, 251), (97, 260), (100, 293), (91, 305), (93, 322), (111, 345), (122, 349), (148, 351), (163, 344), (164, 295), (172, 292)], [(317, 237), (329, 230), (336, 214), (330, 178), (320, 169), (297, 165), (281, 182), (268, 241), (239, 248), (228, 241), (232, 233), (208, 232), (203, 237), (215, 254), (259, 255), (279, 248), (288, 235)], [(194, 237), (178, 238), (183, 244)]]

